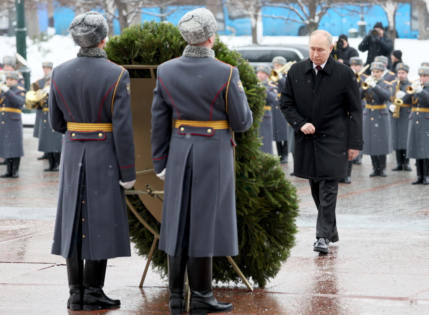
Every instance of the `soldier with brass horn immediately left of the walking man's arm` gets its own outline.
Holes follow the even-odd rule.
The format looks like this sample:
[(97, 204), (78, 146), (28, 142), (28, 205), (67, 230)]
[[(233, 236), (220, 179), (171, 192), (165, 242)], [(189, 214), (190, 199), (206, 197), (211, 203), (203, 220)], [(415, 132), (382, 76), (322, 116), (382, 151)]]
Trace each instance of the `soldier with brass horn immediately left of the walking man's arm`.
[[(273, 58), (272, 63), (275, 73), (278, 74), (278, 77), (272, 80), (272, 83), (276, 86), (277, 98), (279, 98), (280, 90), (283, 87), (284, 81), (286, 81), (286, 74), (283, 74), (281, 67), (283, 67), (287, 63), (287, 60), (282, 56), (277, 56)], [(286, 119), (284, 119), (284, 116), (281, 113), (280, 107), (278, 106), (277, 102), (273, 105), (272, 114), (273, 133), (274, 140), (276, 141), (277, 146), (277, 154), (280, 157), (280, 163), (288, 163), (288, 129), (291, 128), (292, 132), (293, 129), (289, 126)]]

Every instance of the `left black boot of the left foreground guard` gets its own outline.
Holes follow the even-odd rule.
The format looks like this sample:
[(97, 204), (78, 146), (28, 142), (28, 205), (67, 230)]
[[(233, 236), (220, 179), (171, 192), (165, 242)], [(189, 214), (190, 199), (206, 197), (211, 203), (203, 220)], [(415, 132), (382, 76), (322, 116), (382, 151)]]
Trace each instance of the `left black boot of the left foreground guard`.
[(83, 306), (83, 260), (80, 253), (76, 251), (74, 258), (65, 260), (67, 265), (68, 288), (70, 297), (67, 308), (81, 310)]

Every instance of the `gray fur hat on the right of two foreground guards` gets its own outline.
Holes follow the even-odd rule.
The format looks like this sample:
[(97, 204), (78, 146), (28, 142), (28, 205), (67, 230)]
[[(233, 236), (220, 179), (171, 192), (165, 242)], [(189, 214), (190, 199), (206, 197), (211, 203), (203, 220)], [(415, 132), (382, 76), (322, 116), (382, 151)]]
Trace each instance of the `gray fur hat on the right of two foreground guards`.
[(210, 10), (198, 8), (183, 15), (177, 28), (188, 44), (199, 44), (216, 33), (218, 22)]

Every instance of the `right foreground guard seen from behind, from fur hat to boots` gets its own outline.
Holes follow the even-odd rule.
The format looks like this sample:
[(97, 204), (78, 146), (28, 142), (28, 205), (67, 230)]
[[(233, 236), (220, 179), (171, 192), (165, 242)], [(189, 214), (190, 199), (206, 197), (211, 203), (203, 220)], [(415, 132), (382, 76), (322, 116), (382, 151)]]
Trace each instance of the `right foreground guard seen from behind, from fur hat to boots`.
[(252, 112), (239, 71), (214, 58), (213, 14), (190, 11), (178, 28), (188, 45), (159, 65), (152, 103), (153, 165), (165, 179), (159, 249), (168, 254), (169, 305), (172, 314), (184, 311), (187, 264), (190, 313), (229, 311), (231, 303), (213, 296), (211, 261), (238, 254), (230, 129), (248, 130)]

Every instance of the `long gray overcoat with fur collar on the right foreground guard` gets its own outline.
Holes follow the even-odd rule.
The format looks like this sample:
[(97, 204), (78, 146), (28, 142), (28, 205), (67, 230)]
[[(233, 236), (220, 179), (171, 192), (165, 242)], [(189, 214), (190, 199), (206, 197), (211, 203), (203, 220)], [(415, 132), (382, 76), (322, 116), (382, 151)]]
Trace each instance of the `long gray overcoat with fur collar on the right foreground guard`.
[[(173, 256), (185, 245), (191, 257), (238, 254), (235, 144), (230, 130), (216, 129), (213, 122), (227, 120), (234, 132), (244, 132), (252, 125), (252, 112), (239, 71), (213, 57), (207, 47), (188, 45), (182, 57), (157, 71), (152, 158), (155, 173), (166, 168), (159, 249)], [(172, 119), (193, 122), (172, 129)], [(195, 122), (203, 127), (192, 126)], [(189, 243), (184, 244), (188, 206)]]

